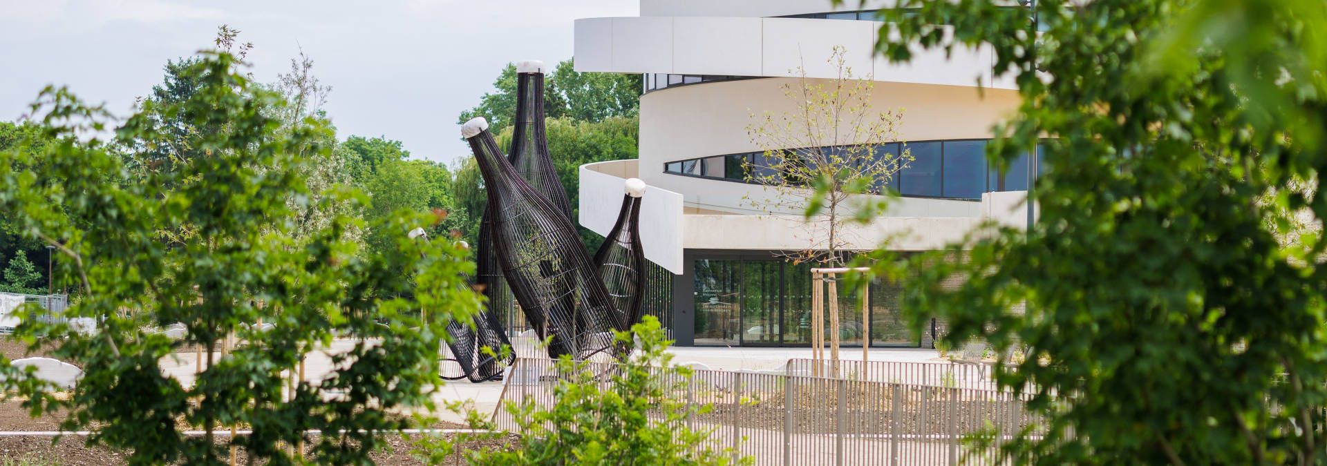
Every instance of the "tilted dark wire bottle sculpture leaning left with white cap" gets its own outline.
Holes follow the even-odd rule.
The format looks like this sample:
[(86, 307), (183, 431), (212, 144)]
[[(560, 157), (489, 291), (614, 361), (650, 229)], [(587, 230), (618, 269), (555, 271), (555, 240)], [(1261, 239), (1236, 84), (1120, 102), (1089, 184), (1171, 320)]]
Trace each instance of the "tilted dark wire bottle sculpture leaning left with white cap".
[(600, 282), (576, 226), (502, 156), (487, 120), (471, 119), (460, 132), (488, 188), (498, 262), (527, 320), (551, 339), (549, 356), (620, 355), (625, 348), (613, 344), (613, 331), (625, 331), (626, 318)]

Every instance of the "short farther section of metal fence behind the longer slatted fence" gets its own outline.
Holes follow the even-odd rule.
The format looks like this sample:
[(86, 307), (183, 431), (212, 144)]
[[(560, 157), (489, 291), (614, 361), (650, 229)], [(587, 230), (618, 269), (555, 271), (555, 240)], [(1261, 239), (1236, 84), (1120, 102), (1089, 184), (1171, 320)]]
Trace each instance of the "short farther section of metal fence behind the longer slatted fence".
[[(820, 365), (819, 372), (816, 365)], [(839, 360), (837, 364), (833, 364), (828, 360), (790, 359), (786, 373), (946, 388), (997, 388), (995, 365), (987, 363)]]

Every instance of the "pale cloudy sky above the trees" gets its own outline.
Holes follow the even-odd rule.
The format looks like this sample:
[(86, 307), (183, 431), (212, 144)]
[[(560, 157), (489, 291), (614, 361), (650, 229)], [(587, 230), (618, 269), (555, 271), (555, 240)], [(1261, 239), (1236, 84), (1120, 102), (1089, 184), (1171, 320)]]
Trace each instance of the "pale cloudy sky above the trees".
[(226, 24), (252, 42), (257, 81), (300, 49), (332, 86), (337, 136), (398, 139), (411, 158), (468, 154), (456, 115), (507, 62), (572, 56), (572, 21), (637, 16), (636, 0), (0, 0), (0, 120), (46, 85), (118, 117), (162, 81), (167, 60), (208, 48)]

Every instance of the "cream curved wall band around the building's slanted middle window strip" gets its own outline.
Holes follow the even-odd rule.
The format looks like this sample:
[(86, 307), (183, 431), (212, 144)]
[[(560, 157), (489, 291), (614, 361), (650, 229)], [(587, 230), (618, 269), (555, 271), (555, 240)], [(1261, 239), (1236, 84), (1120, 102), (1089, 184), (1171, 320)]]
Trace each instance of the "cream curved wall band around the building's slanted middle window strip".
[[(687, 207), (730, 213), (764, 213), (774, 193), (763, 187), (664, 173), (673, 160), (759, 151), (747, 127), (754, 114), (796, 110), (784, 95), (792, 78), (744, 79), (679, 86), (641, 97), (640, 177), (681, 193)], [(876, 83), (872, 106), (902, 109), (896, 130), (902, 140), (991, 138), (991, 124), (1014, 111), (1014, 91), (973, 87)], [(977, 203), (901, 199), (892, 216), (978, 216)], [(776, 213), (795, 214), (795, 210)]]

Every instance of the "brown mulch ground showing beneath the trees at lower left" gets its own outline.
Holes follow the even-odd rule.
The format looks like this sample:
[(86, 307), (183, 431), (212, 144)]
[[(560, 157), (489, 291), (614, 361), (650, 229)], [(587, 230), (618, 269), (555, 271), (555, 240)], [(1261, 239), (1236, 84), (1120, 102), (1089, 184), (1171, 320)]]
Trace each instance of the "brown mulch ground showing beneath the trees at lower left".
[[(44, 356), (44, 351), (36, 353), (27, 353), (27, 348), (21, 343), (9, 340), (7, 336), (0, 335), (0, 355), (9, 359), (21, 359), (32, 356)], [(45, 414), (40, 417), (31, 417), (23, 406), (19, 405), (17, 400), (0, 401), (0, 432), (37, 432), (37, 430), (60, 430), (60, 422), (65, 418), (65, 412), (57, 412), (52, 414)], [(430, 429), (464, 429), (464, 425), (453, 422), (439, 422), (427, 426)], [(423, 465), (423, 461), (411, 454), (413, 445), (410, 438), (402, 438), (398, 434), (385, 434), (382, 436), (385, 447), (373, 451), (370, 458), (378, 465)], [(104, 446), (88, 446), (86, 437), (81, 436), (66, 436), (53, 442), (53, 437), (0, 437), (0, 465), (3, 466), (102, 466), (102, 465), (125, 465), (127, 451), (115, 451)], [(458, 450), (494, 450), (506, 449), (512, 438), (498, 438), (498, 440), (471, 440), (462, 443)], [(218, 438), (219, 445), (226, 443), (226, 438)], [(312, 449), (311, 449), (312, 450)], [(239, 454), (238, 463), (247, 463), (247, 458), (243, 451)], [(462, 465), (459, 457), (453, 455), (446, 462), (446, 465)]]

